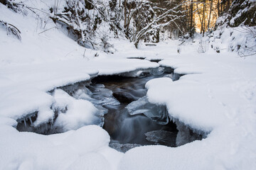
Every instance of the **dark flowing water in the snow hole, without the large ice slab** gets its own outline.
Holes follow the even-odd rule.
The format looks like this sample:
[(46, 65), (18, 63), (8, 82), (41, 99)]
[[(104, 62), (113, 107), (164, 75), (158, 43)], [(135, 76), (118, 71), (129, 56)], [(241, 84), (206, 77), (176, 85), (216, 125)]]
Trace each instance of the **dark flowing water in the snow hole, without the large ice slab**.
[(139, 78), (106, 76), (92, 79), (92, 86), (104, 84), (120, 102), (119, 105), (104, 106), (108, 112), (104, 117), (103, 128), (110, 134), (111, 147), (125, 152), (139, 145), (176, 146), (178, 130), (175, 123), (169, 121), (166, 125), (161, 125), (162, 123), (146, 117), (143, 113), (130, 115), (125, 108), (129, 103), (146, 96), (146, 82), (159, 77), (174, 79), (174, 74), (165, 69), (163, 72), (146, 74)]

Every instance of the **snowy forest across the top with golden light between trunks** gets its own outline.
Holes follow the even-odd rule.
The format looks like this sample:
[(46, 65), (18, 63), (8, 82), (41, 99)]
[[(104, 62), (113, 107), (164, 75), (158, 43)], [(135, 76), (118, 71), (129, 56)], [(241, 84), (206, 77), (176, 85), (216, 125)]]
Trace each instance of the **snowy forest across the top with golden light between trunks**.
[[(47, 11), (10, 0), (1, 3), (14, 11), (27, 8), (33, 13), (48, 13), (78, 44), (92, 49), (103, 47), (106, 52), (112, 47), (108, 39), (120, 36), (137, 47), (140, 40), (159, 42), (161, 33), (168, 33), (172, 39), (193, 38), (195, 33), (204, 36), (224, 23), (230, 27), (255, 26), (255, 2), (249, 0), (75, 0), (65, 1), (64, 6), (60, 6), (61, 0), (55, 0)], [(110, 35), (103, 33), (105, 29), (111, 31)]]

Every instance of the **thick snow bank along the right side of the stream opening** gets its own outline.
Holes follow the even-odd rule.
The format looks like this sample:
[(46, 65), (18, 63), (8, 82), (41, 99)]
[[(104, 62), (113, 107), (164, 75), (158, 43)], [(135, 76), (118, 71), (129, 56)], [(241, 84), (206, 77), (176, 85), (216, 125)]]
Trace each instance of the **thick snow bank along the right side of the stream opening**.
[(177, 55), (159, 64), (187, 74), (178, 81), (146, 84), (151, 103), (165, 104), (169, 115), (209, 132), (206, 139), (181, 147), (137, 147), (119, 169), (254, 169), (256, 166), (255, 57)]

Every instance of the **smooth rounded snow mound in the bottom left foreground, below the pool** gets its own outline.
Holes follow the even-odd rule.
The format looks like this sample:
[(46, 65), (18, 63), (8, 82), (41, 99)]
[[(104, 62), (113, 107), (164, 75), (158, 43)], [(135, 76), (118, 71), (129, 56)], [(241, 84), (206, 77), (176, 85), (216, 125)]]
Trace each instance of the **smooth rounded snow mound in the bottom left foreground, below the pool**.
[[(118, 161), (113, 158), (120, 157), (119, 152), (108, 147), (107, 132), (96, 125), (43, 136), (17, 132), (1, 124), (0, 134), (0, 145), (11, 146), (1, 147), (1, 169), (113, 169), (113, 162)], [(105, 154), (106, 150), (112, 157)]]

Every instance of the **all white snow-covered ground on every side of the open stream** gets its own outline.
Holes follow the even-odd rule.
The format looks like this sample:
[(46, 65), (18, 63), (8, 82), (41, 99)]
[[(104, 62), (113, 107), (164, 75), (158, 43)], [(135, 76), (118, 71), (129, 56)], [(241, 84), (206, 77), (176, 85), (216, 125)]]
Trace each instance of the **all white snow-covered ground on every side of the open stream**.
[[(255, 56), (228, 52), (225, 40), (218, 42), (220, 53), (211, 48), (198, 53), (199, 40), (181, 46), (178, 41), (142, 45), (139, 50), (126, 40), (115, 40), (117, 52), (107, 55), (85, 51), (51, 21), (46, 27), (53, 29), (42, 33), (47, 28), (38, 26), (31, 13), (23, 16), (0, 4), (0, 16), (21, 30), (22, 38), (0, 28), (0, 169), (255, 169)], [(178, 81), (149, 81), (147, 96), (152, 103), (165, 104), (172, 119), (207, 132), (206, 139), (176, 148), (136, 147), (122, 154), (108, 147), (105, 130), (91, 125), (96, 108), (89, 101), (70, 99), (60, 90), (49, 93), (96, 74), (159, 66), (127, 57), (162, 59), (160, 65), (186, 74)], [(63, 123), (70, 120), (68, 130), (74, 130), (48, 136), (16, 130), (16, 120), (35, 111), (37, 125), (53, 119), (56, 103), (73, 108), (75, 115), (67, 115)]]

